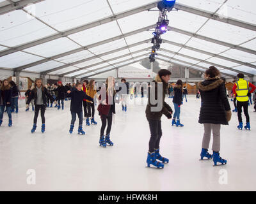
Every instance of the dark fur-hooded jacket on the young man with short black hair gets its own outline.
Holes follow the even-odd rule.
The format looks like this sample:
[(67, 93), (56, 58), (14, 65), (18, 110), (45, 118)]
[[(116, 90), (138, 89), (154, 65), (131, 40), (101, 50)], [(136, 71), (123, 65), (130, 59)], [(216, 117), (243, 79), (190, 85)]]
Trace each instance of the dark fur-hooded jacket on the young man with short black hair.
[[(151, 120), (161, 120), (162, 115), (164, 114), (168, 119), (172, 118), (172, 114), (170, 112), (172, 111), (172, 108), (164, 101), (166, 92), (167, 92), (167, 88), (168, 88), (168, 84), (166, 84), (165, 82), (163, 82), (161, 80), (161, 78), (159, 77), (159, 75), (157, 75), (156, 79), (152, 82), (155, 84), (155, 92), (150, 91), (150, 89), (152, 89), (150, 87), (150, 89), (148, 89), (148, 105), (146, 108), (146, 117), (147, 119), (151, 119)], [(162, 94), (162, 109), (159, 112), (154, 112), (152, 111), (152, 108), (156, 107), (158, 104), (156, 103), (156, 105), (153, 105), (150, 101), (150, 98), (155, 97), (155, 99), (157, 100), (157, 83), (163, 83), (163, 91), (161, 92)], [(159, 90), (160, 91), (160, 90)]]

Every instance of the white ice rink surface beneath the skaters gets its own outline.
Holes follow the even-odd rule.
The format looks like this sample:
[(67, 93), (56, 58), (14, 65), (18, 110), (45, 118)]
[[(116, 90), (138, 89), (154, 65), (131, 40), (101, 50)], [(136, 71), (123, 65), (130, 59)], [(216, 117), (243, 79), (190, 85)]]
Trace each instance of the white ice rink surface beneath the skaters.
[[(33, 113), (20, 108), (0, 127), (0, 191), (255, 191), (256, 113), (250, 106), (251, 131), (237, 129), (233, 113), (229, 126), (221, 126), (221, 157), (225, 166), (199, 161), (204, 126), (198, 124), (200, 99), (189, 96), (181, 109), (184, 128), (171, 126), (162, 118), (161, 154), (170, 159), (163, 170), (146, 168), (150, 132), (141, 98), (130, 101), (127, 113), (116, 105), (111, 131), (113, 147), (99, 147), (100, 118), (97, 126), (84, 127), (85, 136), (68, 133), (70, 102), (65, 110), (47, 108), (46, 132), (34, 134)], [(147, 100), (147, 99), (145, 99)], [(166, 98), (172, 106), (172, 99)], [(232, 109), (233, 104), (230, 102)], [(174, 109), (174, 108), (173, 108)], [(244, 116), (243, 116), (244, 119)], [(212, 140), (211, 140), (212, 142)], [(210, 151), (211, 153), (211, 151)], [(35, 170), (36, 184), (29, 185), (28, 170)]]

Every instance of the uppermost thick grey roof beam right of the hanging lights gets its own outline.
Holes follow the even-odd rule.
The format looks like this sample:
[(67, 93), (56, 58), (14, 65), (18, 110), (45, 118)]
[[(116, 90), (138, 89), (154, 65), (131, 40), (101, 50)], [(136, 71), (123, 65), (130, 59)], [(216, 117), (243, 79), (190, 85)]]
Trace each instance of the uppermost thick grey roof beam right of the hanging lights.
[(243, 27), (245, 29), (256, 31), (256, 26), (254, 24), (249, 24), (248, 22), (243, 22), (234, 18), (221, 17), (209, 11), (200, 10), (198, 8), (193, 8), (180, 3), (176, 3), (174, 8), (176, 8), (177, 10), (186, 11), (188, 13), (193, 13), (195, 15), (200, 15), (201, 17), (210, 18), (212, 20), (217, 20), (226, 24), (236, 25), (238, 27)]

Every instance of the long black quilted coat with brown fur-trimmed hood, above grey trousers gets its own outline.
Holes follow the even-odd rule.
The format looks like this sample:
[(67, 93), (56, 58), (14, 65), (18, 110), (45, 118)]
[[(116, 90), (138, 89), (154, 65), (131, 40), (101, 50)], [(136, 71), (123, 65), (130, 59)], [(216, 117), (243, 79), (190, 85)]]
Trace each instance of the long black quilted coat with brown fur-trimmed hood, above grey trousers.
[(202, 97), (199, 123), (228, 125), (227, 112), (230, 112), (230, 105), (223, 80), (209, 78), (199, 82), (198, 89)]

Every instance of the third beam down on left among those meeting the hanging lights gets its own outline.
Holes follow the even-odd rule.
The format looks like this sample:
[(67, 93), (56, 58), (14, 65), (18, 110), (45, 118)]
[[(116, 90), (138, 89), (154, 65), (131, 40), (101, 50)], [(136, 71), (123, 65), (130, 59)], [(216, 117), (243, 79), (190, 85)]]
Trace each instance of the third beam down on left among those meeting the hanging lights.
[(52, 71), (58, 71), (58, 70), (60, 70), (60, 69), (67, 68), (68, 66), (74, 66), (74, 65), (80, 64), (80, 63), (82, 63), (82, 62), (90, 61), (90, 60), (92, 60), (92, 59), (97, 59), (97, 58), (103, 57), (103, 56), (105, 56), (105, 55), (109, 55), (109, 54), (113, 54), (113, 53), (115, 53), (115, 52), (120, 52), (120, 51), (122, 51), (122, 50), (126, 50), (127, 48), (136, 47), (136, 46), (138, 46), (138, 45), (147, 43), (147, 42), (149, 42), (150, 40), (151, 40), (151, 39), (143, 40), (143, 41), (140, 41), (140, 42), (138, 42), (138, 43), (134, 43), (134, 44), (129, 45), (129, 46), (125, 46), (125, 47), (122, 47), (122, 48), (118, 48), (118, 49), (115, 49), (115, 50), (111, 50), (111, 51), (109, 51), (109, 52), (104, 52), (104, 53), (102, 53), (102, 54), (95, 55), (95, 56), (92, 56), (92, 57), (88, 57), (88, 58), (86, 58), (86, 59), (81, 59), (81, 60), (79, 60), (79, 61), (72, 62), (72, 63), (69, 63), (69, 64), (65, 64), (65, 65), (59, 66), (59, 67), (57, 67), (57, 68), (49, 69), (49, 70), (47, 70), (47, 71), (42, 72), (42, 74), (46, 75), (47, 73), (50, 73), (50, 72), (52, 72)]

